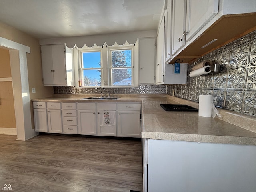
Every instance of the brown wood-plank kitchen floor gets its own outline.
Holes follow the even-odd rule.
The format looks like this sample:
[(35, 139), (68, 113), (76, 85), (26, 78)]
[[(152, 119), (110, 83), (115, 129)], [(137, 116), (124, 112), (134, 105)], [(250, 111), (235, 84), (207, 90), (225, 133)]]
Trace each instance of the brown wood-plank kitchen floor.
[(42, 134), (16, 141), (16, 136), (0, 135), (0, 190), (142, 192), (142, 188), (140, 140)]

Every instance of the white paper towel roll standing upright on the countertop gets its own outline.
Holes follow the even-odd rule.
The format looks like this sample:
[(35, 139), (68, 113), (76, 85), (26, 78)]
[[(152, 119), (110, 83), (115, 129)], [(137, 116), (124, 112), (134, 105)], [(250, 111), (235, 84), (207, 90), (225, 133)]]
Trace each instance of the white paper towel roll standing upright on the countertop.
[(199, 95), (198, 115), (202, 117), (212, 116), (212, 95)]

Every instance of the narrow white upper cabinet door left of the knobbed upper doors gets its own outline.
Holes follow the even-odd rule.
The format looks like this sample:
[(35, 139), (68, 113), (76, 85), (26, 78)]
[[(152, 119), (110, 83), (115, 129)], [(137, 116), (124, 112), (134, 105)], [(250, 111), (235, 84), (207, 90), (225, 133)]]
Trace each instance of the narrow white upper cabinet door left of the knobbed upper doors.
[(172, 58), (172, 0), (168, 1), (165, 15), (165, 62), (168, 63)]

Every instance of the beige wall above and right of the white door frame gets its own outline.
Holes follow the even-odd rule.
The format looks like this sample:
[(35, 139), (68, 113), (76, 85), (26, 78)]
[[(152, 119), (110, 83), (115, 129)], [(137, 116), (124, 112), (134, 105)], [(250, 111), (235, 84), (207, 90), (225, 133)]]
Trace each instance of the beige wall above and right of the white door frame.
[[(43, 86), (42, 82), (42, 66), (39, 39), (36, 39), (2, 22), (0, 22), (0, 37), (30, 47), (30, 54), (27, 54), (30, 99), (52, 96), (52, 86)], [(36, 88), (36, 93), (32, 93), (32, 88)], [(31, 113), (33, 113), (32, 104)], [(34, 128), (33, 118), (32, 127)]]

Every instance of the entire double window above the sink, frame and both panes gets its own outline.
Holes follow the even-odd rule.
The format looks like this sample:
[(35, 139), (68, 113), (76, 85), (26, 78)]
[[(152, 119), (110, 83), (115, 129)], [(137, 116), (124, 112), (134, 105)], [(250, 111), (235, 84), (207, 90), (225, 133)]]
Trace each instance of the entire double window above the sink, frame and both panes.
[[(138, 86), (138, 44), (78, 48), (75, 67), (76, 86)], [(75, 57), (76, 58), (76, 57)]]

